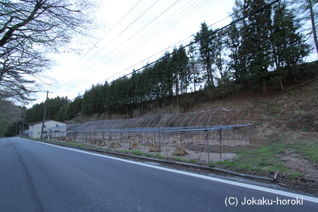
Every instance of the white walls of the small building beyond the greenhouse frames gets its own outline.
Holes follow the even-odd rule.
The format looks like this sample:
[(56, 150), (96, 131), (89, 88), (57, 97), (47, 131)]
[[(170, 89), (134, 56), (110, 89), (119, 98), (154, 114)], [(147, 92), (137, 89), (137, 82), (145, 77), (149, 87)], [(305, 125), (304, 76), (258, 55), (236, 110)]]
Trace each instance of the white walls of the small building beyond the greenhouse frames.
[[(49, 121), (45, 121), (44, 125), (45, 125), (45, 127), (43, 128), (43, 132), (44, 132), (43, 133), (43, 138), (46, 138), (50, 134), (50, 132), (47, 132), (48, 128), (57, 127), (57, 125), (58, 126), (66, 126), (66, 123), (57, 122), (57, 121), (54, 121), (54, 120), (49, 120)], [(30, 135), (31, 138), (40, 139), (41, 138), (41, 130), (42, 130), (42, 122), (34, 124), (34, 125), (30, 125), (29, 126), (29, 130), (30, 130), (29, 135)], [(65, 129), (65, 131), (66, 131), (66, 129)]]

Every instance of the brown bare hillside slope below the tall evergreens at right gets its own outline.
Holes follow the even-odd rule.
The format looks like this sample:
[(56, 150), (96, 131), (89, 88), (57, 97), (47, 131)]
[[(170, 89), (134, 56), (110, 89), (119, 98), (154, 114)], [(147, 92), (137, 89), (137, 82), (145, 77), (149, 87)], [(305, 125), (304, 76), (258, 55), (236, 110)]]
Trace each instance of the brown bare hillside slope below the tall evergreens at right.
[(224, 99), (202, 96), (188, 111), (223, 107), (238, 123), (255, 124), (260, 135), (280, 131), (318, 132), (318, 80), (283, 92), (236, 92)]

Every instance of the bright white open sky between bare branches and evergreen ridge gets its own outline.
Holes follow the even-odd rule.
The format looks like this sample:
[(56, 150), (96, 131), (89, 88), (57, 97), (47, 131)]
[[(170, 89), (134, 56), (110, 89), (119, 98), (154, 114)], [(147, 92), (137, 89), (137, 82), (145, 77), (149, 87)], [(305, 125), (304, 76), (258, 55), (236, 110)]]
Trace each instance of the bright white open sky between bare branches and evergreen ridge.
[[(205, 21), (212, 29), (231, 22), (235, 0), (106, 0), (96, 10), (101, 38), (80, 46), (82, 54), (53, 55), (55, 66), (46, 75), (55, 79), (44, 85), (35, 103), (68, 96), (74, 99), (93, 84), (112, 80), (158, 60), (174, 46), (188, 44)], [(228, 18), (227, 18), (228, 17)], [(89, 42), (87, 42), (89, 43)], [(91, 42), (90, 42), (91, 43)], [(93, 47), (93, 48), (92, 48)]]

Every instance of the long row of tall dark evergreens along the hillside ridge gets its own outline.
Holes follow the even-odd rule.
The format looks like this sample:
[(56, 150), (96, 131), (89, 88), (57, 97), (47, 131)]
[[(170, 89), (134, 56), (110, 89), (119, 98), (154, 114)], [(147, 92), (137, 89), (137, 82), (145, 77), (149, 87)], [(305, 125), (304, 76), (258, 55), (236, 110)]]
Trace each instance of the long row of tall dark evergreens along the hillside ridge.
[[(179, 98), (189, 92), (195, 95), (197, 91), (215, 90), (224, 97), (237, 89), (283, 90), (287, 83), (310, 77), (305, 62), (314, 45), (307, 42), (302, 19), (296, 13), (300, 5), (267, 3), (236, 1), (233, 21), (246, 18), (224, 29), (202, 22), (187, 48), (182, 44), (174, 47), (155, 63), (111, 83), (92, 85), (74, 100), (49, 99), (47, 117), (64, 121), (79, 113), (132, 115), (153, 101), (167, 105), (175, 99), (179, 106)], [(27, 120), (42, 120), (43, 110), (43, 102), (33, 105), (26, 110)]]

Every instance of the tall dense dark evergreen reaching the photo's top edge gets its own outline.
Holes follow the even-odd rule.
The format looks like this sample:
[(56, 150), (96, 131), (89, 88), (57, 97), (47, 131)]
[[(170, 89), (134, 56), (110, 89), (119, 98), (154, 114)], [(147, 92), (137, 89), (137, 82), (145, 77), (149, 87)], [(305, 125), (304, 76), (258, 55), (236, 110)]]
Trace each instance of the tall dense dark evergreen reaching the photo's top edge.
[[(266, 5), (265, 0), (244, 0), (244, 14)], [(268, 6), (249, 15), (241, 28), (240, 55), (246, 56), (249, 82), (253, 89), (262, 87), (266, 92), (268, 71), (271, 66), (271, 7)]]

